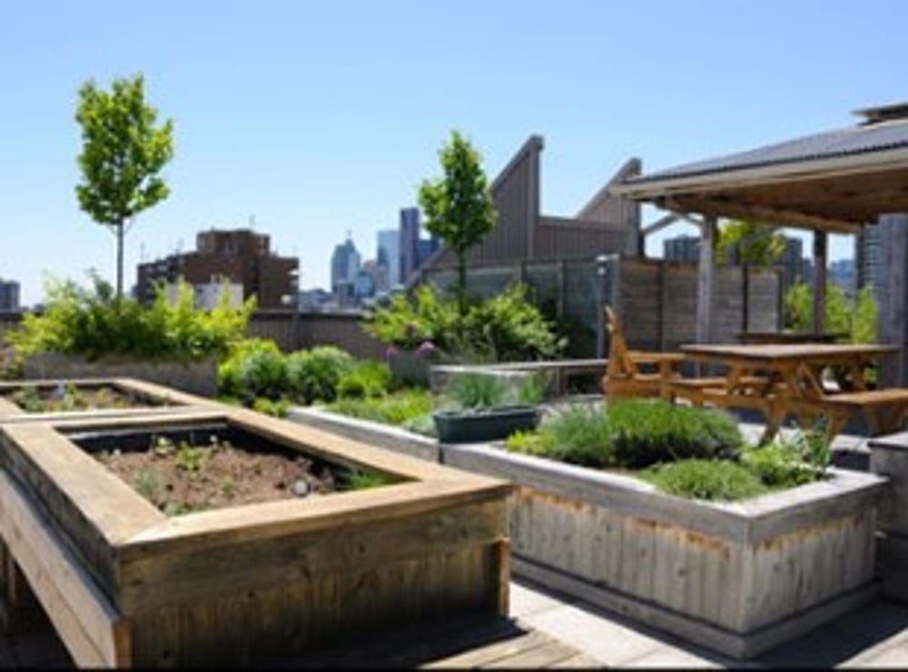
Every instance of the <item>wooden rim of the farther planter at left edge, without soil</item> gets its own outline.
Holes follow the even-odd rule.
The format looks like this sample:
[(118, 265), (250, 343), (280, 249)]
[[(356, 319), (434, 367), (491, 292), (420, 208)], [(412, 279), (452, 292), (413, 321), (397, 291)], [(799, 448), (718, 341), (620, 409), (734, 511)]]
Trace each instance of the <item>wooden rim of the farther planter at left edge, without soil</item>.
[[(61, 385), (74, 385), (79, 392), (93, 393), (102, 388), (111, 388), (129, 400), (137, 402), (122, 408), (94, 408), (90, 410), (56, 411), (30, 413), (20, 407), (12, 398), (16, 392), (34, 389), (41, 393), (57, 390)], [(122, 415), (173, 414), (183, 411), (211, 407), (209, 399), (186, 394), (177, 390), (154, 385), (133, 378), (75, 378), (53, 380), (20, 380), (0, 382), (0, 423), (42, 422), (64, 417), (117, 417)], [(217, 404), (220, 405), (220, 404)]]

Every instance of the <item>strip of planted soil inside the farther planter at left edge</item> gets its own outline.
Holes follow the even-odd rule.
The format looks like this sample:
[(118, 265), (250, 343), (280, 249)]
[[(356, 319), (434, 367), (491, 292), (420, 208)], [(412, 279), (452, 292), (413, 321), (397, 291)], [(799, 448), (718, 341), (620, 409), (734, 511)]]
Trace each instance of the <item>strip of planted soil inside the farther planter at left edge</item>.
[(112, 385), (27, 386), (6, 394), (5, 397), (26, 413), (59, 413), (105, 408), (149, 408), (169, 405), (165, 401), (151, 401), (141, 394), (124, 392)]

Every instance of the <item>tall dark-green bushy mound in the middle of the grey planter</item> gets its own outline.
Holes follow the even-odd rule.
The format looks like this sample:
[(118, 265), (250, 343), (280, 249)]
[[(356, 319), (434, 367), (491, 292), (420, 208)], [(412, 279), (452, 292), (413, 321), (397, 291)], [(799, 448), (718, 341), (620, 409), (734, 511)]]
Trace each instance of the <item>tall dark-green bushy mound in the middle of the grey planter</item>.
[(744, 443), (735, 419), (716, 409), (627, 399), (608, 404), (607, 415), (615, 462), (629, 469), (733, 457)]

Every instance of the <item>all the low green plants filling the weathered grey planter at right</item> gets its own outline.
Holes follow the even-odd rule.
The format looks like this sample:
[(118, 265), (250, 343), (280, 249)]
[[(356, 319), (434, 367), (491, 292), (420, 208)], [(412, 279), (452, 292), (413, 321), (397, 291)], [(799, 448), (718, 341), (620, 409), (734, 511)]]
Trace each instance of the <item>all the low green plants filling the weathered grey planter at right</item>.
[(824, 478), (829, 445), (823, 423), (752, 446), (725, 411), (637, 399), (568, 406), (506, 442), (512, 452), (626, 471), (663, 492), (728, 501)]

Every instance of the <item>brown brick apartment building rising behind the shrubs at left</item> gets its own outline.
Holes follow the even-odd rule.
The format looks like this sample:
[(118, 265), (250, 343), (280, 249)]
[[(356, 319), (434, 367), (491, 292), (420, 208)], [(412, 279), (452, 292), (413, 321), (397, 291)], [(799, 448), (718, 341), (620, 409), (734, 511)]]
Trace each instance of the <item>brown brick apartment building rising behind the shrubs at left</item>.
[(211, 229), (196, 236), (194, 252), (139, 264), (136, 298), (151, 303), (159, 282), (183, 278), (191, 285), (202, 285), (226, 277), (242, 284), (243, 298), (257, 296), (259, 307), (287, 308), (281, 297), (296, 290), (291, 272), (298, 268), (298, 258), (271, 252), (265, 234), (250, 229)]

